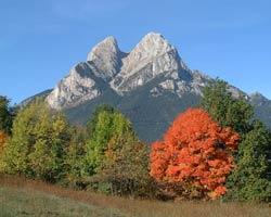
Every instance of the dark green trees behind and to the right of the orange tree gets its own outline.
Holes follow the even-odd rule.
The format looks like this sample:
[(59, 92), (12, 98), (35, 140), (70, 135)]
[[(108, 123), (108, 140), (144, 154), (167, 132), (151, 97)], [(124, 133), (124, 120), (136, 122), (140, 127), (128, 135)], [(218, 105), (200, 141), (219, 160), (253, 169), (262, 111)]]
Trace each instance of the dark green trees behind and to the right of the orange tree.
[(216, 79), (204, 90), (202, 107), (221, 126), (241, 135), (235, 153), (235, 169), (228, 177), (227, 197), (238, 201), (269, 201), (267, 152), (271, 150), (270, 131), (254, 118), (254, 107), (244, 98), (234, 98), (227, 82)]

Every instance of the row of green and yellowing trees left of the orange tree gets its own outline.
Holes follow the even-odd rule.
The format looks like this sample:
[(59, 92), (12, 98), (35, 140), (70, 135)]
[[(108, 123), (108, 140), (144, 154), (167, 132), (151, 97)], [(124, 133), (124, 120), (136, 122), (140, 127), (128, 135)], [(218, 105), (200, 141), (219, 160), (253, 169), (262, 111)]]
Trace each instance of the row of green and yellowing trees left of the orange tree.
[(153, 191), (149, 146), (113, 107), (100, 106), (81, 128), (36, 100), (17, 112), (12, 135), (2, 131), (2, 173), (113, 195), (150, 196)]

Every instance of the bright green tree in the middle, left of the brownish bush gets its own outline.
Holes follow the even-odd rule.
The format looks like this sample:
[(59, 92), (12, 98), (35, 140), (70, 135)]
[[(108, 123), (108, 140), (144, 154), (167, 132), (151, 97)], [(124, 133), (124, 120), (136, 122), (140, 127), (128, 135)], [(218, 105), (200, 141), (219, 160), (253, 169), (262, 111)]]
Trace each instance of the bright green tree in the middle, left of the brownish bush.
[[(114, 108), (98, 108), (91, 120), (91, 135), (86, 145), (86, 173), (94, 175), (101, 165), (104, 152), (113, 137), (121, 137), (124, 133), (132, 131), (131, 123), (118, 111)], [(89, 125), (90, 126), (90, 125)]]

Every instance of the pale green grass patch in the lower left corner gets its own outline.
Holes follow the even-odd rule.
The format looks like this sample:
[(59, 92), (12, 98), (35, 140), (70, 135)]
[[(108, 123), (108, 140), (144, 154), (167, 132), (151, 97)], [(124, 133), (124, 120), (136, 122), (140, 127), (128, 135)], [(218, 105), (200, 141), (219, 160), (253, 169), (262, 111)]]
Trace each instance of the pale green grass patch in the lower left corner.
[(0, 187), (0, 217), (26, 216), (126, 217), (113, 208), (101, 208), (29, 189)]

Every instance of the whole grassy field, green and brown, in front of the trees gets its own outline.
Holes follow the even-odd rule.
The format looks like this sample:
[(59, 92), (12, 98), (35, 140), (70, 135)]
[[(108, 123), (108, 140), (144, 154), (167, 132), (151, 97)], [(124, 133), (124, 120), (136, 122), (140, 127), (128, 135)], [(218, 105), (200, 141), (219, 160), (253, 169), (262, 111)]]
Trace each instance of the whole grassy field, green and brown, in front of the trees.
[(0, 216), (271, 217), (271, 207), (267, 204), (128, 200), (0, 176)]

